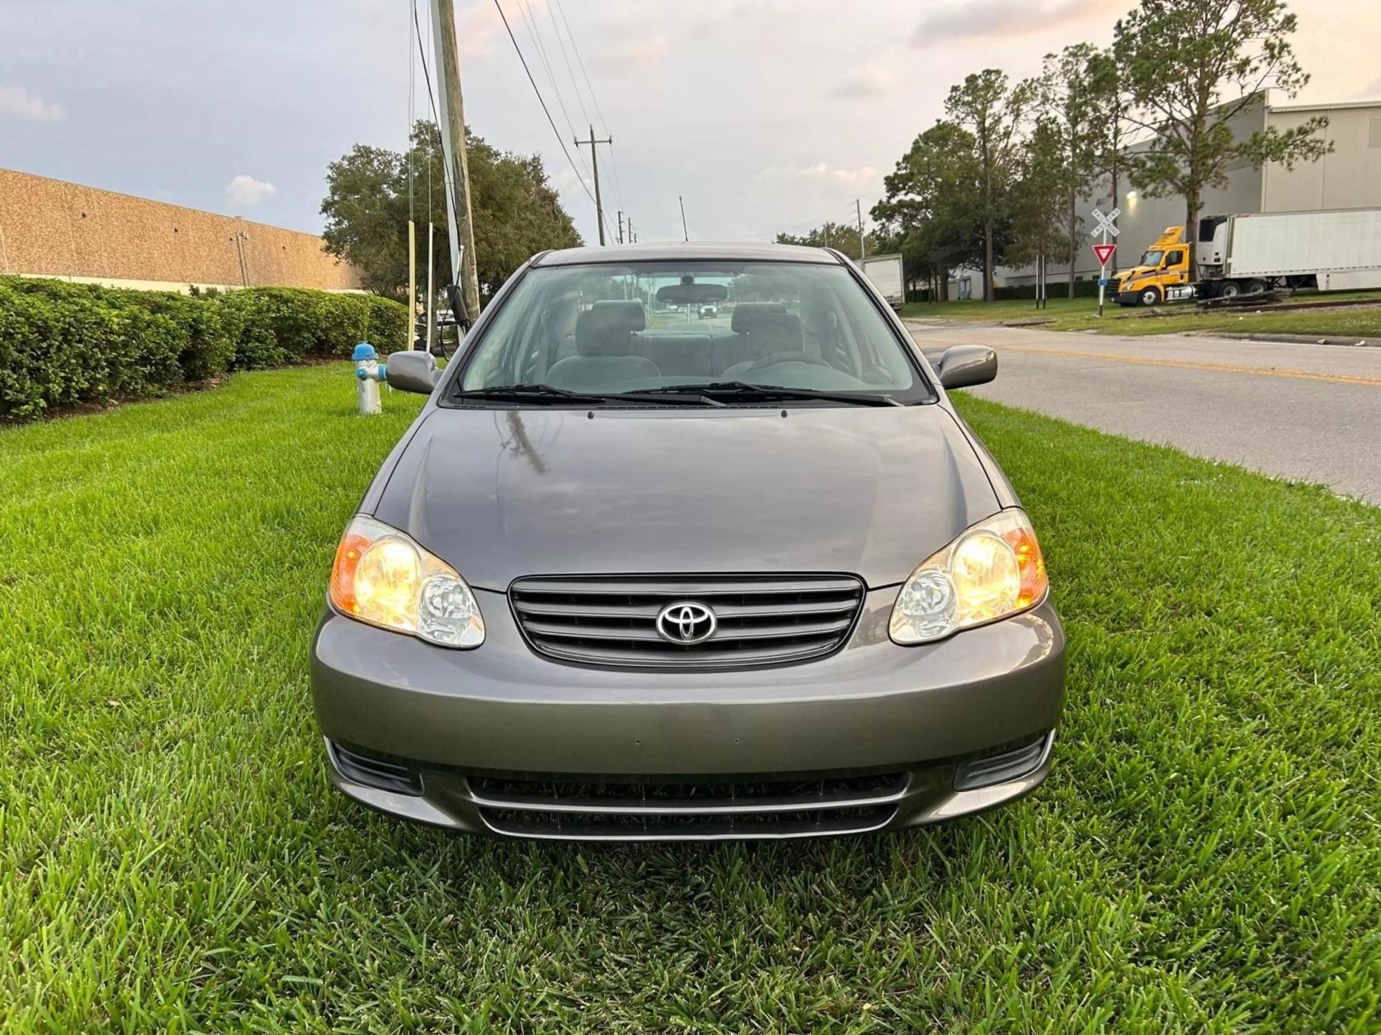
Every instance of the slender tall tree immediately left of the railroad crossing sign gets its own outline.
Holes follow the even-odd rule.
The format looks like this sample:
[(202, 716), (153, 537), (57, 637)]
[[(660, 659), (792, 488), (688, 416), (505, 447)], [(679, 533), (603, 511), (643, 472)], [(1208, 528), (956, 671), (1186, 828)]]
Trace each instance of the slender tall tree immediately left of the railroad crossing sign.
[[(1032, 152), (1027, 155), (1021, 222), (1025, 226), (1023, 233), (1036, 230), (1041, 235), (1043, 244), (1052, 244), (1044, 235), (1048, 229), (1045, 210), (1041, 208), (1037, 214), (1032, 206), (1051, 192), (1063, 195), (1065, 226), (1059, 239), (1062, 250), (1069, 254), (1070, 298), (1074, 297), (1074, 265), (1079, 262), (1079, 230), (1083, 222), (1079, 215), (1079, 200), (1088, 196), (1088, 182), (1098, 170), (1103, 132), (1099, 120), (1109, 115), (1102, 103), (1106, 80), (1102, 77), (1103, 68), (1098, 55), (1098, 48), (1091, 43), (1074, 43), (1059, 54), (1047, 54), (1040, 79), (1030, 84), (1032, 94), (1045, 116), (1029, 145)], [(1116, 119), (1116, 113), (1113, 117)], [(1039, 153), (1036, 148), (1040, 148)], [(1039, 168), (1043, 177), (1050, 177), (1054, 182), (1032, 179), (1033, 168)]]

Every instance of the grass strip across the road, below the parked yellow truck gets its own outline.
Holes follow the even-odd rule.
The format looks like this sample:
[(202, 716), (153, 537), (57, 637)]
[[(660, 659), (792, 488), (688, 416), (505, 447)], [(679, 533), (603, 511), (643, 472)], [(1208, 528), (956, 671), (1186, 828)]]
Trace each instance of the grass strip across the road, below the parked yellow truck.
[[(1056, 286), (1052, 286), (1052, 290)], [(1026, 299), (1004, 299), (997, 302), (911, 302), (902, 308), (902, 316), (917, 320), (954, 320), (957, 323), (1003, 323), (1007, 320), (1047, 319), (1043, 324), (1052, 331), (1095, 331), (1098, 334), (1184, 334), (1185, 331), (1247, 331), (1272, 334), (1340, 334), (1356, 337), (1381, 335), (1381, 293), (1377, 291), (1333, 291), (1301, 293), (1291, 301), (1306, 305), (1327, 306), (1330, 302), (1353, 299), (1375, 299), (1377, 308), (1351, 308), (1311, 312), (1309, 309), (1287, 309), (1284, 312), (1197, 312), (1192, 304), (1171, 304), (1153, 310), (1126, 308), (1109, 301), (1103, 305), (1103, 316), (1098, 316), (1097, 298), (1051, 298), (1044, 309), (1036, 309), (1036, 302)], [(1164, 313), (1171, 313), (1166, 316)]]

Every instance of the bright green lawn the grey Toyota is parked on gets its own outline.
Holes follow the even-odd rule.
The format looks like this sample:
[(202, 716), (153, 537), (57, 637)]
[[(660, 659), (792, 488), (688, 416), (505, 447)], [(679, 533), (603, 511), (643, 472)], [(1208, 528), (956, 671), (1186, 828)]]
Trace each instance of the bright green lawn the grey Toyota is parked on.
[(308, 694), (418, 404), (352, 415), (340, 363), (0, 431), (0, 1028), (1381, 1027), (1381, 511), (964, 399), (1070, 639), (1034, 796), (836, 842), (465, 839), (334, 795)]

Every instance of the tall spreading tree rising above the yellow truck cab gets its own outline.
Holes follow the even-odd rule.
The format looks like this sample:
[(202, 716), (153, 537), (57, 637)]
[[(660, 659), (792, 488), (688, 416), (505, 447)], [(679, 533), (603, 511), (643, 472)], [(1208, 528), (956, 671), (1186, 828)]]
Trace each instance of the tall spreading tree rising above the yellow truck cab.
[(1141, 0), (1116, 25), (1132, 124), (1155, 134), (1128, 155), (1131, 178), (1148, 196), (1184, 196), (1190, 269), (1204, 190), (1226, 186), (1229, 168), (1243, 160), (1291, 168), (1329, 150), (1322, 116), (1247, 139), (1232, 130), (1237, 115), (1261, 103), (1259, 91), (1294, 97), (1309, 81), (1290, 46), (1295, 23), (1282, 0)]

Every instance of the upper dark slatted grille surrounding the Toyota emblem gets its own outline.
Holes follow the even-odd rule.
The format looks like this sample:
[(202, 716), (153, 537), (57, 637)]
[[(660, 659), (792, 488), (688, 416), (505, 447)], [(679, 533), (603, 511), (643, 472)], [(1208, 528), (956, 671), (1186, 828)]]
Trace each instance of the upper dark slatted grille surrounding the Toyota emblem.
[[(848, 638), (863, 603), (852, 575), (609, 575), (521, 578), (508, 589), (539, 654), (606, 668), (754, 668), (820, 658)], [(700, 643), (668, 642), (657, 615), (711, 609)]]

